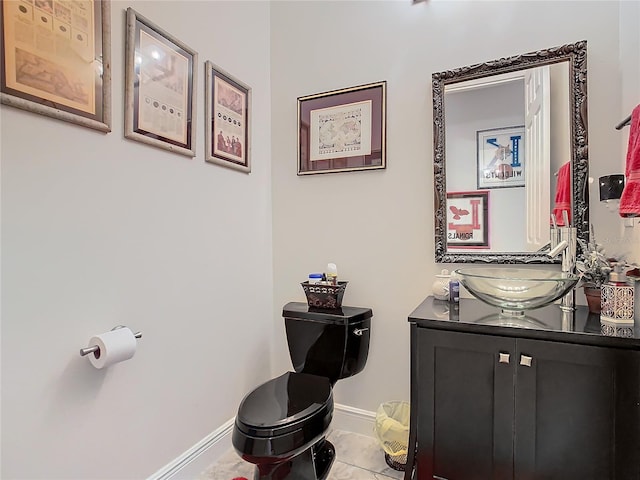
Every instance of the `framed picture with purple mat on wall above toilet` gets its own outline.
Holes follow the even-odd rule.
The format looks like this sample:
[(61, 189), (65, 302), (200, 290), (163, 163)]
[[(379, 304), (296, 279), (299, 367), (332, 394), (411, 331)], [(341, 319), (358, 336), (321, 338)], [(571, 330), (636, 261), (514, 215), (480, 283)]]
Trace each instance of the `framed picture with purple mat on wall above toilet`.
[(298, 175), (386, 168), (387, 82), (298, 98)]

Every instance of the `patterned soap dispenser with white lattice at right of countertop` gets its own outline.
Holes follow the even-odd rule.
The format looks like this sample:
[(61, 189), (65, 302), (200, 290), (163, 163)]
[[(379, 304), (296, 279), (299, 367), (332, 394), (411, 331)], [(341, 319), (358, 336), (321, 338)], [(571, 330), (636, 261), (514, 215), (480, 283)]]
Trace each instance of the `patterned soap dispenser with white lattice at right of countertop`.
[(603, 335), (633, 337), (633, 286), (622, 271), (623, 264), (616, 263), (609, 274), (609, 281), (602, 286), (602, 311), (600, 327)]

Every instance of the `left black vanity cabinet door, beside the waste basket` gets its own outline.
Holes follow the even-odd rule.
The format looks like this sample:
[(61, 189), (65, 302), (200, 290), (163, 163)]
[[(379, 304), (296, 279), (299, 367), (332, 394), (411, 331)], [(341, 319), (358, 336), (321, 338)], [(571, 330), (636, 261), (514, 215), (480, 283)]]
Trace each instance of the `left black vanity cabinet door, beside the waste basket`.
[(425, 328), (416, 335), (416, 478), (513, 478), (515, 340)]

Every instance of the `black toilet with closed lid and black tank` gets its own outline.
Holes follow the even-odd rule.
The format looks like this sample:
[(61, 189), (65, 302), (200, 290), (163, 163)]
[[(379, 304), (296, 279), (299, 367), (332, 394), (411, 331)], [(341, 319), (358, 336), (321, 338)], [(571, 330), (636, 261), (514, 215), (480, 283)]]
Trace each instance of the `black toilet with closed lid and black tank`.
[(362, 371), (369, 353), (370, 308), (283, 307), (293, 372), (248, 393), (236, 416), (232, 443), (256, 465), (254, 480), (323, 480), (335, 457), (326, 440), (333, 385)]

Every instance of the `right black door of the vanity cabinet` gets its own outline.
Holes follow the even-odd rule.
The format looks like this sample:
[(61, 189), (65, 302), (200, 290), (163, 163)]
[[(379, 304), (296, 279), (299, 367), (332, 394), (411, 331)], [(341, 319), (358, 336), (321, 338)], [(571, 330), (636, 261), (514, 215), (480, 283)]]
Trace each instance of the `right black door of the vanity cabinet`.
[(515, 478), (640, 478), (640, 353), (524, 339), (517, 347)]

